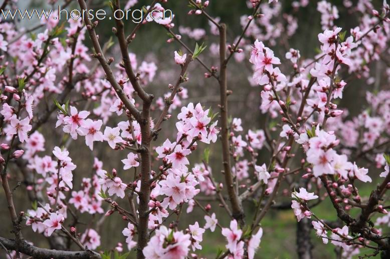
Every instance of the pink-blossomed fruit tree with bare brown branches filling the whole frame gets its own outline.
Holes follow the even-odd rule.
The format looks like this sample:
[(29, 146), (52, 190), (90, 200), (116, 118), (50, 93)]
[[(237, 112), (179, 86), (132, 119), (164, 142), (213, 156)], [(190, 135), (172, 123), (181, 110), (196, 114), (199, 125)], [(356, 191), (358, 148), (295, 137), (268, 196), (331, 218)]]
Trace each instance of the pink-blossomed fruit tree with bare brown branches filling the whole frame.
[[(284, 59), (270, 46), (287, 44), (297, 29), (294, 15), (280, 15), (282, 4), (291, 7), (290, 3), (248, 1), (252, 14), (242, 17), (242, 33), (229, 44), (226, 24), (208, 13), (209, 1), (188, 2), (188, 15), (207, 19), (210, 35), (218, 38), (210, 50), (195, 42), (195, 48), (189, 47), (181, 39), (187, 35), (196, 41), (205, 29), (180, 26), (179, 33), (174, 32), (174, 15), (161, 15), (165, 10), (161, 4), (168, 4), (167, 0), (145, 6), (142, 22), (128, 36), (125, 22), (112, 19), (115, 39), (107, 42), (97, 34), (106, 30), (105, 21), (89, 15), (65, 22), (42, 19), (29, 30), (12, 20), (1, 21), (0, 169), (2, 199), (7, 202), (14, 234), (0, 237), (5, 254), (11, 258), (124, 258), (128, 253), (119, 253), (134, 250), (137, 258), (197, 258), (204, 233), (211, 231), (226, 240), (217, 258), (252, 259), (263, 234), (267, 236), (262, 228), (267, 212), (287, 208), (298, 221), (300, 258), (312, 257), (310, 232), (314, 231), (324, 244), (330, 241), (327, 245), (336, 247), (339, 257), (390, 256), (390, 237), (380, 228), (390, 219), (385, 204), (390, 188), (386, 153), (390, 93), (379, 83), (383, 75), (372, 69), (372, 63), (388, 62), (390, 8), (386, 1), (376, 10), (370, 0), (359, 0), (356, 6), (344, 0), (358, 19), (349, 31), (335, 25), (337, 7), (319, 1), (323, 30), (318, 34), (319, 53), (302, 58), (299, 49), (289, 48), (283, 52)], [(114, 14), (136, 3), (126, 1), (121, 7), (119, 0), (111, 0), (109, 5)], [(294, 1), (292, 8), (305, 8), (308, 3)], [(2, 9), (16, 8), (16, 4), (16, 0), (5, 0)], [(65, 1), (65, 6), (71, 4)], [(80, 13), (89, 10), (85, 0), (78, 0), (77, 7)], [(185, 53), (171, 53), (176, 81), (157, 98), (156, 90), (148, 86), (155, 80), (156, 64), (142, 61), (138, 66), (137, 55), (129, 52), (137, 32), (147, 23), (168, 32), (166, 44), (185, 49)], [(118, 54), (108, 57), (114, 54), (110, 49)], [(218, 65), (207, 65), (206, 51), (218, 56)], [(242, 119), (230, 117), (232, 60), (258, 89), (266, 118), (264, 128), (248, 125), (252, 129), (246, 134), (242, 134)], [(244, 65), (247, 61), (251, 69)], [(188, 98), (182, 85), (190, 81), (188, 72), (195, 63), (205, 69), (210, 84), (219, 86), (218, 112), (203, 106), (202, 98), (182, 104)], [(390, 68), (385, 73), (388, 77)], [(364, 89), (368, 105), (351, 116), (341, 100), (355, 78), (376, 86)], [(165, 124), (170, 122), (175, 124), (173, 135), (164, 139)], [(49, 147), (45, 140), (55, 130), (63, 137)], [(77, 172), (83, 176), (77, 182), (74, 176), (83, 165), (75, 163), (77, 150), (70, 148), (76, 139), (91, 152), (113, 150), (116, 168), (107, 168), (95, 157), (92, 173)], [(207, 145), (221, 146), (221, 173), (212, 172)], [(193, 153), (202, 148), (204, 156), (199, 159)], [(361, 166), (363, 161), (384, 171), (368, 172)], [(17, 185), (10, 186), (14, 181)], [(22, 182), (26, 191), (20, 187)], [(372, 191), (361, 196), (359, 190), (366, 187)], [(26, 194), (31, 207), (16, 204), (16, 193)], [(337, 220), (313, 212), (325, 200), (332, 204)], [(218, 202), (225, 213), (204, 201)], [(193, 209), (200, 209), (204, 217), (182, 227), (182, 214)], [(82, 223), (81, 215), (89, 218), (88, 223)], [(123, 219), (126, 227), (102, 232), (108, 216)], [(228, 224), (223, 217), (229, 218)], [(48, 237), (50, 249), (26, 240), (25, 225), (36, 235)], [(125, 239), (126, 247), (122, 243), (114, 249), (101, 247), (104, 234)]]

